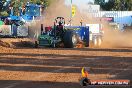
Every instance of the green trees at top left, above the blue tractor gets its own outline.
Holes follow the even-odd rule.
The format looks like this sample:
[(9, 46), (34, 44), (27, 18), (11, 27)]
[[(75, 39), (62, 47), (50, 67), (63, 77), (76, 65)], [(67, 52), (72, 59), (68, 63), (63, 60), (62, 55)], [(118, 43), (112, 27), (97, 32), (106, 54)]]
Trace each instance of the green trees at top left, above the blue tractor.
[[(8, 16), (9, 7), (13, 7), (16, 13), (19, 12), (18, 8), (23, 8), (27, 2), (48, 7), (53, 0), (0, 0), (0, 16)], [(9, 5), (5, 6), (6, 4)]]

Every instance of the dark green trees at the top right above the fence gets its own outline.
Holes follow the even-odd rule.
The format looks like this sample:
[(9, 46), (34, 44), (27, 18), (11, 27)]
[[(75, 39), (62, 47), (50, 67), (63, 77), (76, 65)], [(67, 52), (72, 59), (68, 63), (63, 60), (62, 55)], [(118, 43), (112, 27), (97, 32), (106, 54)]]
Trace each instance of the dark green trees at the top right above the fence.
[(105, 11), (132, 11), (132, 0), (95, 0)]

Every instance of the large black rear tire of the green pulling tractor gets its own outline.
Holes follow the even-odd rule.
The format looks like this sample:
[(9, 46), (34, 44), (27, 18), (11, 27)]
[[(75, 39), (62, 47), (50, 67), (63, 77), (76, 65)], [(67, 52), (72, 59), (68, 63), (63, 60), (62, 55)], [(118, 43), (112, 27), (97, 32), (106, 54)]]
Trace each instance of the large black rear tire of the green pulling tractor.
[(78, 43), (78, 36), (72, 30), (67, 30), (63, 37), (64, 47), (65, 48), (74, 48)]

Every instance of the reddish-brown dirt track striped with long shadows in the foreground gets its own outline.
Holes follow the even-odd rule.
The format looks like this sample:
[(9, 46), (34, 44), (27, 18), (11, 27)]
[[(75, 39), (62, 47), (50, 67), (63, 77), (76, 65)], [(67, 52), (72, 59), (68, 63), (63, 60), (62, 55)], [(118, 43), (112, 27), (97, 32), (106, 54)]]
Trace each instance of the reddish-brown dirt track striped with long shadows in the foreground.
[(132, 80), (132, 48), (4, 48), (0, 88), (81, 88), (81, 68), (89, 78)]

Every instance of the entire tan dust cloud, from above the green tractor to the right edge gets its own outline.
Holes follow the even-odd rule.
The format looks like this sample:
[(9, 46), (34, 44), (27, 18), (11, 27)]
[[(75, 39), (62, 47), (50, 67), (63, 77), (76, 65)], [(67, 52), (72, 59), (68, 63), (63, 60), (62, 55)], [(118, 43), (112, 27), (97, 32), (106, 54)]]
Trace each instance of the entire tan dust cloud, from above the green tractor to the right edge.
[[(69, 24), (71, 7), (66, 6), (64, 0), (56, 0), (56, 2), (52, 3), (48, 8), (46, 8), (41, 21), (35, 22), (31, 25), (32, 30), (30, 30), (30, 34), (33, 36), (35, 36), (36, 33), (40, 34), (41, 24), (44, 24), (44, 26), (53, 26), (54, 19), (58, 16), (64, 17), (66, 24)], [(72, 25), (80, 26), (81, 20), (83, 21), (83, 25), (90, 23), (99, 23), (103, 25), (104, 35), (101, 47), (132, 47), (131, 33), (123, 33), (119, 30), (114, 30), (108, 25), (107, 22), (100, 22), (100, 20), (98, 18), (94, 18), (92, 14), (81, 13), (78, 7), (76, 7), (76, 15), (72, 18)]]

